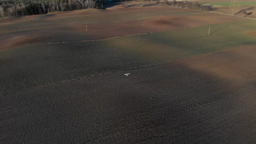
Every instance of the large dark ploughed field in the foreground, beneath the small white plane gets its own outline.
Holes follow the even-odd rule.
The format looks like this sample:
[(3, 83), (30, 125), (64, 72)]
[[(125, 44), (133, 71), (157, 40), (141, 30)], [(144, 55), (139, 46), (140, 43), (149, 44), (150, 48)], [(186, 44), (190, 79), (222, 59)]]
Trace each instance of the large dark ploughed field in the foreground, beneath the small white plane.
[(243, 46), (0, 95), (0, 142), (255, 143), (255, 55)]

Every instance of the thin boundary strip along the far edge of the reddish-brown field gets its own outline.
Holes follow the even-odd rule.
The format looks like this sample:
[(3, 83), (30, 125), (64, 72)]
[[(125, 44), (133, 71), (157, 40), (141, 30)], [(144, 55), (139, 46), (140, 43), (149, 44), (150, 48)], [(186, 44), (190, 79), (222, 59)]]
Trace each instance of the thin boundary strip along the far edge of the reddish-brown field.
[[(207, 13), (194, 13), (194, 14), (180, 14), (180, 15), (199, 15), (199, 14), (207, 14)], [(158, 16), (179, 16), (179, 15), (158, 15)], [(153, 17), (158, 17), (158, 16), (153, 16)], [(147, 17), (147, 18), (141, 18), (141, 19), (132, 19), (132, 20), (120, 20), (120, 21), (108, 21), (108, 22), (88, 22), (87, 24), (97, 24), (97, 23), (110, 23), (110, 22), (122, 22), (122, 21), (136, 21), (136, 20), (146, 20), (146, 19), (151, 19), (153, 17)], [(13, 31), (13, 32), (5, 32), (5, 33), (0, 33), (0, 34), (7, 34), (7, 33), (15, 33), (15, 32), (22, 32), (22, 31), (31, 31), (35, 29), (45, 29), (45, 28), (55, 28), (55, 27), (68, 27), (68, 26), (77, 26), (77, 25), (84, 25), (83, 23), (78, 23), (74, 25), (66, 25), (66, 26), (53, 26), (53, 27), (42, 27), (42, 28), (31, 28), (31, 29), (23, 29), (20, 31)]]

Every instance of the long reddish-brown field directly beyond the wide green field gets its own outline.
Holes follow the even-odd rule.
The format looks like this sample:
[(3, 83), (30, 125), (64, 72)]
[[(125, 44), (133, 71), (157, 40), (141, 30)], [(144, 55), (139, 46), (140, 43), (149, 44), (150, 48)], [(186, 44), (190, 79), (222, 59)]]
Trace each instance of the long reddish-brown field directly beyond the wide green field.
[[(91, 23), (87, 25), (88, 31), (86, 31), (85, 24), (33, 29), (28, 31), (0, 34), (0, 44), (2, 45), (0, 50), (34, 44), (98, 40), (131, 34), (173, 31), (177, 29), (243, 20), (245, 19), (240, 17), (203, 13), (195, 15), (157, 16), (144, 20)], [(22, 35), (22, 37), (18, 35)], [(15, 44), (22, 43), (22, 41), (25, 41), (22, 45)]]

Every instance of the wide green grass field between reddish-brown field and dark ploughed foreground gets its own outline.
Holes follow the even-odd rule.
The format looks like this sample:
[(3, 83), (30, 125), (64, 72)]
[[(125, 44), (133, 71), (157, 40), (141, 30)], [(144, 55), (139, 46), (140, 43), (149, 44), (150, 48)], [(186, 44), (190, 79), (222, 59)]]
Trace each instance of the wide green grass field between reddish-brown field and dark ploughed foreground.
[(45, 44), (0, 51), (0, 94), (110, 71), (172, 62), (256, 44), (255, 21), (231, 22), (102, 41)]

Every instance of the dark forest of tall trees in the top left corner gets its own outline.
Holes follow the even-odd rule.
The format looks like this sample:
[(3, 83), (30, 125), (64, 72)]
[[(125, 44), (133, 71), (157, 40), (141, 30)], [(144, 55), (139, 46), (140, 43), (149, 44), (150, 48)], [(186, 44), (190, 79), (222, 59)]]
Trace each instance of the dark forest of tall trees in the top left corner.
[(105, 0), (5, 0), (0, 1), (0, 16), (25, 16), (53, 11), (103, 9)]

